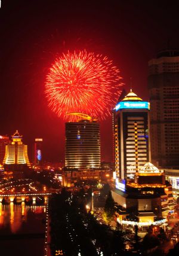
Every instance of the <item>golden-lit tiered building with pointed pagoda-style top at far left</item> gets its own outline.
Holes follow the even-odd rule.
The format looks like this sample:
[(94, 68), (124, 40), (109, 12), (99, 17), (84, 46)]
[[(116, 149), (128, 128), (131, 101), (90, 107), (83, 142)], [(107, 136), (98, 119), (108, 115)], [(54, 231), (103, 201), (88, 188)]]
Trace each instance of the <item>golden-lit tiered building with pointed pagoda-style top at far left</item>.
[(22, 136), (18, 130), (12, 135), (12, 141), (5, 146), (5, 157), (3, 164), (26, 164), (30, 167), (27, 156), (27, 145), (22, 142)]

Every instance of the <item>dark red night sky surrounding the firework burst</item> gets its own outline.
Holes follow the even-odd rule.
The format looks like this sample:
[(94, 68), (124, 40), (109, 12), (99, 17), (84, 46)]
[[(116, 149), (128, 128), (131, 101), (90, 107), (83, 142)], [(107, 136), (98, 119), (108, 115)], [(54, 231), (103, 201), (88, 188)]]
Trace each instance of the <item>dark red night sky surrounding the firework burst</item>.
[[(179, 45), (176, 1), (2, 0), (0, 9), (0, 134), (16, 129), (32, 155), (44, 139), (44, 159), (64, 159), (64, 121), (47, 106), (48, 68), (67, 50), (94, 51), (113, 60), (125, 89), (148, 100), (147, 62)], [(112, 160), (111, 118), (101, 122), (101, 158)]]

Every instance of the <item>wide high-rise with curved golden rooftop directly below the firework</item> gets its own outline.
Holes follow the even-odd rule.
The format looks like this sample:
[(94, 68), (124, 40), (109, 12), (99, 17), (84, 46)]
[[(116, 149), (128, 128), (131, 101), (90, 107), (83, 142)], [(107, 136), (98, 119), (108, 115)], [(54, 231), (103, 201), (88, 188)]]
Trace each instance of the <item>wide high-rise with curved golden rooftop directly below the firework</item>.
[(65, 166), (89, 169), (100, 167), (100, 124), (79, 114), (82, 120), (66, 123)]

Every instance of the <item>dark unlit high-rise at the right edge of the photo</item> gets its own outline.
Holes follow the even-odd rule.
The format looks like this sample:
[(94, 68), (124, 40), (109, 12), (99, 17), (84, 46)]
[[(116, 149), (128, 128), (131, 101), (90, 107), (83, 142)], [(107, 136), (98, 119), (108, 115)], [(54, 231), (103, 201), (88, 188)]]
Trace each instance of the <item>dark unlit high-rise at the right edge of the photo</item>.
[(179, 166), (179, 50), (160, 51), (149, 61), (152, 161)]

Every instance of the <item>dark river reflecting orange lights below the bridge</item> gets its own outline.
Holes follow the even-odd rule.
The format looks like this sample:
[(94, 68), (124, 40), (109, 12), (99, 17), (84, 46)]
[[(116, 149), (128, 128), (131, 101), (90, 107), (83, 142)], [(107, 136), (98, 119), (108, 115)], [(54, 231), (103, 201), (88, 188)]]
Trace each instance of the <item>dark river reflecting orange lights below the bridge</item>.
[(0, 255), (43, 256), (46, 206), (0, 203)]

